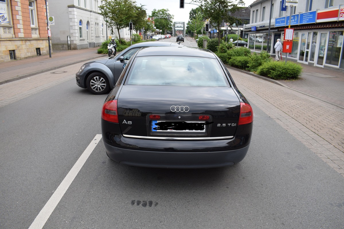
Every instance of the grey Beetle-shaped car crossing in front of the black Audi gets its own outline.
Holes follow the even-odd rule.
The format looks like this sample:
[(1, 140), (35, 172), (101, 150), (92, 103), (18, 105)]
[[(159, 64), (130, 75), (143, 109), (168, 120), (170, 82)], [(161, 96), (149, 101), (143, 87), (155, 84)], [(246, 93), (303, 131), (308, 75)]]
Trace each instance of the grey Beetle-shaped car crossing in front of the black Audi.
[(148, 46), (184, 46), (173, 42), (142, 42), (129, 46), (117, 56), (108, 59), (92, 60), (83, 64), (75, 74), (76, 84), (81, 88), (87, 88), (93, 94), (105, 94), (112, 89), (125, 64), (130, 57), (142, 47)]

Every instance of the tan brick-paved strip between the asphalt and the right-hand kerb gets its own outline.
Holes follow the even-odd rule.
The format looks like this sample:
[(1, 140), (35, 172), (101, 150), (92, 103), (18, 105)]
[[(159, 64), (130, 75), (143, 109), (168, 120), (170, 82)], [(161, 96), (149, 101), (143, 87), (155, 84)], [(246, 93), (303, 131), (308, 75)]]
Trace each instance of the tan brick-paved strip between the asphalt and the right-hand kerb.
[(251, 103), (344, 177), (343, 109), (278, 84), (229, 71)]

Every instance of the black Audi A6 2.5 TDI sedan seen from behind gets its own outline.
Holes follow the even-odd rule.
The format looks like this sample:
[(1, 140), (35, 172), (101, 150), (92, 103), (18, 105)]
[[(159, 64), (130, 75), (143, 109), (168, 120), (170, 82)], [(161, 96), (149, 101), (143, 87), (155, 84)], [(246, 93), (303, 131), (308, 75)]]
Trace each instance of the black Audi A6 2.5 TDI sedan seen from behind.
[(248, 151), (252, 122), (252, 107), (222, 61), (189, 47), (137, 51), (101, 112), (109, 158), (153, 168), (238, 163)]

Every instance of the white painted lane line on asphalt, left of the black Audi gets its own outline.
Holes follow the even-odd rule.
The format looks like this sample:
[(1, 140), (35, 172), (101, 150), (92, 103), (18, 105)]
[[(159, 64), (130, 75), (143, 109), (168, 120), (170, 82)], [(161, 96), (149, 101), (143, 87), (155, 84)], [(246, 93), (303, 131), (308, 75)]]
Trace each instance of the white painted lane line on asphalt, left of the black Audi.
[(58, 202), (60, 202), (63, 195), (66, 193), (69, 185), (72, 184), (74, 178), (85, 164), (87, 158), (90, 156), (94, 148), (96, 148), (98, 142), (101, 139), (101, 134), (97, 134), (94, 139), (90, 142), (88, 147), (85, 149), (83, 154), (75, 162), (73, 168), (68, 172), (66, 177), (63, 179), (61, 184), (57, 187), (56, 191), (50, 197), (49, 201), (44, 205), (40, 213), (37, 215), (35, 220), (32, 222), (29, 229), (42, 229), (50, 215), (53, 213)]

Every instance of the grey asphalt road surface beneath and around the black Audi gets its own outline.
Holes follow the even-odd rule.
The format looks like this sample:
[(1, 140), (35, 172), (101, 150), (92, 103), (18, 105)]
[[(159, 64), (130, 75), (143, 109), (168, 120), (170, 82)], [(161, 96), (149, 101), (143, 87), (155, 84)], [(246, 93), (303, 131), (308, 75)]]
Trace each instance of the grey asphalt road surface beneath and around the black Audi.
[(59, 69), (65, 80), (0, 107), (1, 229), (344, 228), (343, 177), (255, 104), (248, 155), (232, 167), (111, 161), (99, 139), (106, 95), (77, 87), (79, 67)]

